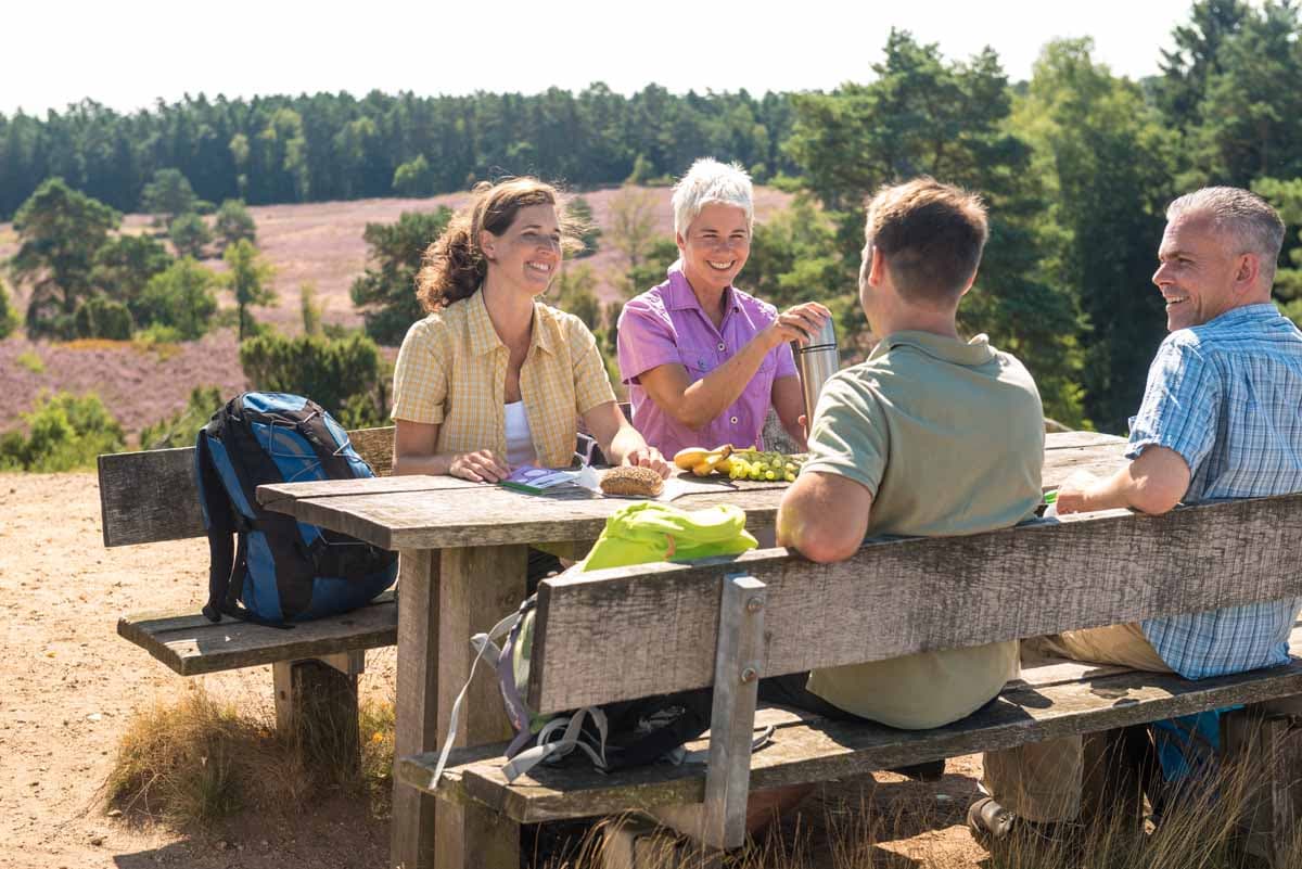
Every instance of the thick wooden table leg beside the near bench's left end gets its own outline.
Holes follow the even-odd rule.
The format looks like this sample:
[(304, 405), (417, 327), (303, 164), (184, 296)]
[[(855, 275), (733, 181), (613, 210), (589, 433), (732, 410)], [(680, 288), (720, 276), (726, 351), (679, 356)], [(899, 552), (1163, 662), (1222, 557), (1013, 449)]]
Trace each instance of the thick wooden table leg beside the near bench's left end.
[[(526, 546), (404, 552), (398, 593), (398, 756), (435, 751), (470, 674), (470, 636), (525, 597)], [(466, 692), (457, 745), (510, 735), (491, 669)], [(436, 846), (435, 846), (436, 843)], [(477, 805), (453, 805), (395, 784), (393, 864), (402, 869), (499, 869), (519, 862), (519, 829)]]

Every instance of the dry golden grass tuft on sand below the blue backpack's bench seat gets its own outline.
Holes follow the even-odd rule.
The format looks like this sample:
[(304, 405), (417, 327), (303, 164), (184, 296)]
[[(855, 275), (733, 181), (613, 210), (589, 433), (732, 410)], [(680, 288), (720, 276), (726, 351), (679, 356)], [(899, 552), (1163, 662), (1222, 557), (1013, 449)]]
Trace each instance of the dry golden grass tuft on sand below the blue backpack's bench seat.
[(266, 713), (241, 709), (191, 683), (174, 704), (138, 712), (105, 782), (111, 807), (138, 821), (206, 826), (236, 812), (284, 812), (331, 794), (354, 794), (383, 817), (389, 808), (393, 706), (361, 704), (361, 764), (353, 771), (305, 752)]

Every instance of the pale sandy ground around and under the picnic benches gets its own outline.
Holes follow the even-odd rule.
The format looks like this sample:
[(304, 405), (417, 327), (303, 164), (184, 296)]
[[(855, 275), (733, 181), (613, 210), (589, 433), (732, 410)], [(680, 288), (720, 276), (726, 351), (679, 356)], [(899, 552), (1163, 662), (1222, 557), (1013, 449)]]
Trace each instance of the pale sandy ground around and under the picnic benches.
[[(103, 782), (132, 712), (186, 689), (185, 679), (117, 636), (117, 617), (198, 608), (206, 571), (203, 540), (104, 549), (92, 474), (0, 474), (0, 866), (385, 866), (388, 825), (362, 800), (306, 814), (246, 813), (203, 831), (107, 816)], [(202, 679), (214, 695), (272, 714), (270, 667)], [(363, 692), (389, 697), (392, 686), (393, 650), (370, 653)], [(803, 831), (794, 834), (818, 840), (805, 865), (840, 862), (822, 842), (824, 825), (857, 826), (866, 800), (893, 818), (894, 840), (855, 865), (975, 869), (984, 852), (961, 823), (976, 769), (966, 757), (952, 760), (936, 784), (884, 774), (876, 784), (833, 783), (822, 805), (806, 804)]]

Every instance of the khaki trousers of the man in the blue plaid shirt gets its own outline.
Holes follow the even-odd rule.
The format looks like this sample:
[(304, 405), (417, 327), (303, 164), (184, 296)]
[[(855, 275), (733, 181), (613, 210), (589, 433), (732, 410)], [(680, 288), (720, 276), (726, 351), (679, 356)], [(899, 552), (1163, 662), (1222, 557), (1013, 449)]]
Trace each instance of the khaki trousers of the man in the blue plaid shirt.
[[(1135, 623), (1023, 640), (1048, 654), (1172, 673)], [(1027, 821), (1074, 821), (1081, 814), (1085, 758), (1079, 736), (987, 752), (982, 784), (996, 803)]]

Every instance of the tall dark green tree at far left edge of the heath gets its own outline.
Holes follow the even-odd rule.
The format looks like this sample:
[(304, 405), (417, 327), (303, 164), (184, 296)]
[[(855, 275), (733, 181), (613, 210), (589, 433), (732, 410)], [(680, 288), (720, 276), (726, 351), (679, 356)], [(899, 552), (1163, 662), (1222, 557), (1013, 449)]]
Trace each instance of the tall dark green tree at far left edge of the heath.
[(121, 215), (73, 190), (62, 178), (40, 185), (18, 208), (13, 228), (20, 247), (9, 268), (14, 280), (31, 286), (30, 337), (72, 336), (77, 302), (92, 289), (95, 252), (120, 221)]

